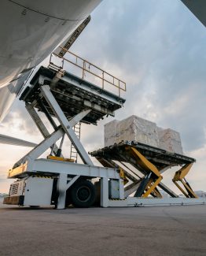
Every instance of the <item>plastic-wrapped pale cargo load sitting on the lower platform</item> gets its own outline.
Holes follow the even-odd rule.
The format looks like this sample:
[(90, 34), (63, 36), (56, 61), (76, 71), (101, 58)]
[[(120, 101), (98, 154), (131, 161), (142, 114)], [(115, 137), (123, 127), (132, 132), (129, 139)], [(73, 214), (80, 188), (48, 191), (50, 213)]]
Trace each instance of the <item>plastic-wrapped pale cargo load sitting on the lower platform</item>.
[(157, 127), (156, 123), (134, 115), (105, 124), (105, 147), (126, 140), (183, 154), (180, 135), (171, 128)]

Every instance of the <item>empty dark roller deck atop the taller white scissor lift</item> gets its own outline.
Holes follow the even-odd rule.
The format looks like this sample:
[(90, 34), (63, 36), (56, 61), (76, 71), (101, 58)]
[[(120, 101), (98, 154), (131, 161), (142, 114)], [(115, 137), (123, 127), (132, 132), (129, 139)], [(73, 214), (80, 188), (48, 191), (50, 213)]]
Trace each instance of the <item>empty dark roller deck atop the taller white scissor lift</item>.
[(31, 104), (35, 102), (35, 109), (44, 112), (43, 106), (53, 116), (53, 111), (44, 98), (39, 100), (41, 93), (41, 77), (46, 78), (44, 83), (50, 84), (53, 97), (61, 107), (64, 115), (71, 119), (84, 109), (91, 109), (90, 113), (83, 117), (82, 122), (86, 124), (97, 124), (97, 121), (105, 115), (114, 116), (116, 109), (120, 109), (125, 99), (112, 92), (106, 91), (94, 83), (82, 80), (72, 73), (64, 71), (57, 72), (53, 69), (41, 67), (31, 80), (32, 87), (27, 87), (20, 100)]

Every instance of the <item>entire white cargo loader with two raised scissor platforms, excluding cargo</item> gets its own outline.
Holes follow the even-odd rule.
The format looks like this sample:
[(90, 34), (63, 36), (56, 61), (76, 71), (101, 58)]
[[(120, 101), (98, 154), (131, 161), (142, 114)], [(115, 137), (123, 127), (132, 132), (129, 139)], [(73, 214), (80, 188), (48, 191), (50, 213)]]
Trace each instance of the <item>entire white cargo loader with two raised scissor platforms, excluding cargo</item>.
[[(94, 165), (80, 142), (81, 124), (97, 124), (105, 117), (114, 117), (125, 102), (121, 93), (126, 91), (126, 83), (62, 50), (67, 54), (51, 54), (50, 65), (35, 72), (20, 96), (44, 139), (9, 170), (8, 178), (15, 181), (4, 203), (57, 209), (90, 207), (94, 202), (102, 207), (205, 203), (184, 180), (195, 159), (182, 154), (123, 141), (91, 152), (101, 164)], [(79, 69), (79, 76), (72, 73), (74, 67)], [(87, 76), (92, 81), (86, 80)], [(64, 157), (65, 137), (71, 142), (70, 150), (64, 149), (66, 154), (70, 152), (69, 158)], [(50, 154), (42, 158), (48, 150)], [(161, 174), (172, 166), (181, 167), (173, 181), (182, 182), (186, 198), (179, 198), (163, 183)], [(162, 198), (160, 189), (169, 198)]]

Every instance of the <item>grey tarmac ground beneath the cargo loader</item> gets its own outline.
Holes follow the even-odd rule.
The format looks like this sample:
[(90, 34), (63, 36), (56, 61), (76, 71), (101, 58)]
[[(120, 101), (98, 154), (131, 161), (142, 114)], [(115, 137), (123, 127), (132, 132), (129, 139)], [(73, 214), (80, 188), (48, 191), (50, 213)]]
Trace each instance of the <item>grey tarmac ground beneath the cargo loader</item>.
[(206, 206), (3, 206), (0, 255), (206, 255)]

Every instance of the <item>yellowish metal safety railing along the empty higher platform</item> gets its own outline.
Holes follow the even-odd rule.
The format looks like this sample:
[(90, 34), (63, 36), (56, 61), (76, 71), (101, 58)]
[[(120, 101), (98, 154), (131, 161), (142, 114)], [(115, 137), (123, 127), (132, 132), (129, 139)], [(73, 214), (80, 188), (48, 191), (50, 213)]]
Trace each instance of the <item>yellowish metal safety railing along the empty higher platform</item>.
[[(121, 91), (126, 91), (126, 83), (123, 82), (123, 80), (118, 79), (116, 76), (112, 76), (112, 74), (109, 72), (106, 72), (105, 70), (97, 67), (97, 65), (86, 61), (76, 54), (73, 54), (71, 51), (62, 48), (61, 46), (59, 48), (61, 50), (67, 51), (67, 53), (64, 55), (64, 57), (61, 57), (61, 55), (57, 54), (57, 50), (56, 52), (50, 54), (50, 68), (56, 69), (59, 72), (63, 70), (68, 71), (66, 65), (69, 63), (70, 65), (74, 65), (78, 69), (82, 70), (80, 75), (82, 76), (83, 80), (85, 80), (86, 73), (94, 76), (94, 81), (96, 79), (101, 80), (101, 84), (98, 84), (98, 86), (100, 86), (103, 90), (108, 90), (109, 86), (116, 87), (119, 96), (121, 95)], [(56, 60), (54, 60), (54, 58), (56, 58)], [(71, 71), (72, 69), (69, 70)]]

